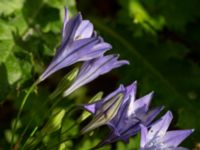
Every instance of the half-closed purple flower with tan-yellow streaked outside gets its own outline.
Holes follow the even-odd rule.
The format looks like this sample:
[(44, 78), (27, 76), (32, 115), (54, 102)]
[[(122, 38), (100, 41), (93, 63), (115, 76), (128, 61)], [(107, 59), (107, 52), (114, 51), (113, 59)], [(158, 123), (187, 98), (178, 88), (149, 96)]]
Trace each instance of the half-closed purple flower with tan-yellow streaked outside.
[(82, 129), (82, 133), (89, 132), (99, 126), (105, 125), (112, 120), (123, 103), (125, 88), (121, 85), (117, 90), (106, 96), (103, 100), (90, 105), (83, 105), (85, 109), (93, 114), (92, 121)]

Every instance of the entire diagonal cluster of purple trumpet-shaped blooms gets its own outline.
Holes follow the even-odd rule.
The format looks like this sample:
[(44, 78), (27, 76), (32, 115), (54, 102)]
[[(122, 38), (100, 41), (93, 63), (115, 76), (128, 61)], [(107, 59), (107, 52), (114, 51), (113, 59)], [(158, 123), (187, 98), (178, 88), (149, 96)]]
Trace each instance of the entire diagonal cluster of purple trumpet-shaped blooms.
[[(90, 21), (83, 20), (80, 13), (70, 18), (66, 8), (61, 46), (39, 80), (41, 82), (64, 67), (83, 62), (71, 86), (63, 93), (63, 96), (68, 96), (98, 76), (129, 64), (126, 60), (118, 60), (119, 55), (104, 55), (111, 48), (97, 35)], [(131, 136), (141, 132), (141, 150), (185, 150), (178, 146), (193, 129), (167, 131), (172, 113), (168, 111), (161, 119), (154, 121), (163, 106), (149, 109), (153, 92), (136, 99), (136, 91), (137, 82), (120, 85), (102, 100), (83, 105), (93, 119), (82, 129), (82, 133), (107, 125), (110, 133), (97, 147), (118, 140), (128, 142)]]

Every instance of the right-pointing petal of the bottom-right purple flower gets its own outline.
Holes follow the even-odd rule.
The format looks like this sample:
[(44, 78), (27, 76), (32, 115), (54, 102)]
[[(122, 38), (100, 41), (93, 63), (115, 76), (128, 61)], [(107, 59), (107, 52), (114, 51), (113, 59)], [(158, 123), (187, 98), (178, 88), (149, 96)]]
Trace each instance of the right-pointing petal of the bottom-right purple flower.
[(192, 132), (194, 132), (193, 129), (168, 131), (163, 137), (162, 141), (166, 145), (177, 147), (183, 140), (192, 134)]

